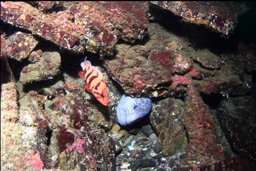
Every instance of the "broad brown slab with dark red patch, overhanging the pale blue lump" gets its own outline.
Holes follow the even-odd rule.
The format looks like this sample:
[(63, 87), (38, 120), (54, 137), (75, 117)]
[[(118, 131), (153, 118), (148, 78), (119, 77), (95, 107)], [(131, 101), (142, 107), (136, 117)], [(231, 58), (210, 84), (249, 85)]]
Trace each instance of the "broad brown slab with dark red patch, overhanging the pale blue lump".
[[(161, 30), (149, 24), (149, 32)], [(172, 35), (153, 34), (145, 45), (117, 45), (117, 55), (106, 59), (106, 67), (113, 78), (122, 86), (126, 93), (136, 96), (152, 97), (168, 90), (168, 83), (174, 74), (189, 71), (192, 61), (185, 54), (166, 49)], [(163, 41), (158, 41), (163, 39)], [(167, 83), (167, 84), (165, 84)], [(156, 95), (155, 97), (157, 97)]]

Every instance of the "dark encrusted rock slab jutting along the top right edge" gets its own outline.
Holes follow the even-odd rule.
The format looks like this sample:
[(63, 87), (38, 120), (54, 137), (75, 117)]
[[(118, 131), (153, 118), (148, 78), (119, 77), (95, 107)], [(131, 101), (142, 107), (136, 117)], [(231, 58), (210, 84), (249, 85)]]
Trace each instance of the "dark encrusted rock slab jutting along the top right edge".
[(151, 3), (170, 10), (185, 21), (202, 24), (226, 35), (235, 27), (239, 14), (246, 10), (246, 7), (236, 2), (152, 1)]

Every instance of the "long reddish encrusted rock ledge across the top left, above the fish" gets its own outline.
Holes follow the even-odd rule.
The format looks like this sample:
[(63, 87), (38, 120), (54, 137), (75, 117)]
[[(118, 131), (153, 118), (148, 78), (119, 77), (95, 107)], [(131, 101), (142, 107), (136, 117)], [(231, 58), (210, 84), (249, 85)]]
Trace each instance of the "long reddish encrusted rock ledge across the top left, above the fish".
[(145, 35), (145, 9), (135, 2), (61, 2), (57, 6), (63, 10), (44, 13), (28, 3), (1, 2), (1, 20), (77, 53), (111, 54), (117, 37), (134, 42)]

